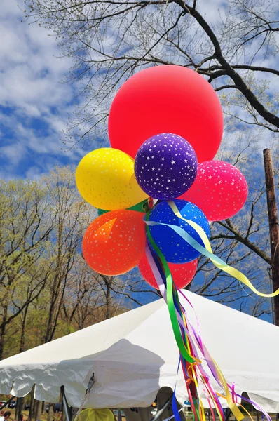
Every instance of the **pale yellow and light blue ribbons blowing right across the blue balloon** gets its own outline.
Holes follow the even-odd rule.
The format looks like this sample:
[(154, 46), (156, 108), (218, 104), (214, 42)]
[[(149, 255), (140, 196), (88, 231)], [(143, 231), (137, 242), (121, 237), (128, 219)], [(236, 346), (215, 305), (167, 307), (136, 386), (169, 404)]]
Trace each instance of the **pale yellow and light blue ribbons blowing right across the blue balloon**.
[(198, 250), (200, 253), (205, 255), (205, 257), (209, 258), (212, 261), (212, 263), (216, 267), (218, 267), (218, 269), (221, 269), (222, 271), (226, 272), (227, 274), (230, 274), (231, 276), (233, 276), (233, 278), (236, 278), (236, 279), (238, 279), (238, 281), (244, 283), (255, 294), (260, 295), (261, 297), (268, 297), (268, 298), (275, 297), (276, 295), (279, 294), (279, 289), (276, 290), (274, 293), (271, 293), (271, 294), (260, 293), (256, 288), (254, 288), (254, 286), (249, 281), (247, 276), (245, 276), (238, 269), (235, 269), (234, 267), (231, 267), (231, 266), (227, 265), (226, 262), (224, 262), (224, 260), (218, 258), (217, 255), (212, 253), (210, 241), (209, 241), (209, 239), (207, 239), (207, 235), (205, 234), (202, 227), (200, 227), (198, 224), (196, 224), (196, 222), (193, 222), (191, 220), (186, 220), (185, 218), (183, 218), (183, 216), (181, 215), (181, 213), (177, 209), (177, 206), (175, 205), (174, 201), (171, 201), (171, 200), (168, 201), (168, 205), (172, 209), (173, 213), (175, 213), (177, 218), (180, 218), (181, 220), (184, 220), (185, 222), (187, 222), (187, 224), (191, 225), (191, 227), (193, 229), (195, 229), (195, 231), (198, 233), (200, 238), (203, 240), (203, 243), (204, 243), (205, 247), (201, 246), (200, 243), (198, 243), (198, 241), (193, 239), (193, 237), (190, 234), (188, 234), (187, 232), (185, 232), (184, 229), (182, 229), (181, 227), (177, 227), (177, 225), (165, 224), (163, 222), (155, 222), (155, 221), (149, 221), (149, 220), (146, 220), (145, 223), (147, 225), (166, 225), (167, 227), (170, 227), (179, 236), (181, 236), (182, 239), (184, 239), (187, 243), (189, 243), (190, 246), (192, 246), (193, 248), (196, 248), (196, 250)]

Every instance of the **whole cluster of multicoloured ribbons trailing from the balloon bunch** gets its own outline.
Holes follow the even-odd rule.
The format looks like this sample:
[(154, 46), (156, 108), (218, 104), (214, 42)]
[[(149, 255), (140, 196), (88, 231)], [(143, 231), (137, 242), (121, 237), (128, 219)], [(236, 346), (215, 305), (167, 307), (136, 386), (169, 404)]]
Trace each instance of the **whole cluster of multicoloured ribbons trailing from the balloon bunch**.
[[(221, 259), (217, 258), (217, 256), (215, 256), (212, 253), (212, 249), (210, 247), (210, 243), (207, 239), (207, 236), (205, 234), (205, 232), (203, 231), (203, 229), (201, 229), (195, 222), (189, 221), (189, 220), (185, 220), (182, 215), (179, 213), (179, 210), (177, 209), (177, 206), (175, 206), (175, 203), (173, 201), (169, 201), (168, 204), (170, 205), (170, 207), (172, 208), (173, 212), (175, 213), (175, 215), (177, 216), (177, 218), (181, 218), (182, 220), (186, 221), (187, 223), (189, 223), (189, 225), (191, 225), (191, 227), (193, 227), (193, 229), (196, 229), (196, 232), (198, 232), (198, 234), (200, 235), (201, 239), (203, 240), (203, 243), (205, 244), (206, 248), (203, 248), (202, 246), (200, 246), (199, 243), (197, 243), (194, 239), (192, 239), (191, 236), (189, 236), (189, 234), (186, 234), (186, 236), (188, 236), (188, 239), (185, 239), (184, 236), (182, 236), (179, 232), (177, 232), (177, 234), (179, 234), (180, 236), (182, 236), (182, 238), (184, 238), (185, 241), (189, 242), (191, 244), (191, 246), (193, 246), (194, 248), (198, 249), (200, 251), (200, 253), (203, 253), (204, 255), (207, 255), (208, 258), (210, 258), (210, 260), (212, 260), (212, 262), (219, 267), (220, 269), (223, 269), (224, 272), (229, 273), (231, 275), (233, 275), (236, 279), (238, 279), (239, 281), (242, 281), (243, 283), (245, 283), (245, 285), (247, 285), (250, 289), (252, 289), (255, 293), (257, 293), (258, 295), (261, 296), (274, 296), (277, 295), (279, 293), (279, 290), (276, 291), (273, 294), (262, 294), (259, 293), (250, 283), (250, 281), (246, 278), (245, 275), (243, 275), (241, 272), (239, 272), (237, 269), (234, 269), (232, 267), (229, 267), (229, 265), (226, 265), (225, 262), (223, 262)], [(147, 225), (157, 225), (157, 223), (153, 224), (149, 222), (149, 215), (147, 215)], [(162, 225), (168, 225), (168, 224), (162, 224)], [(168, 225), (170, 226), (172, 229), (173, 225)], [(176, 227), (179, 228), (179, 227)], [(183, 229), (179, 229), (183, 232)], [(179, 231), (178, 230), (178, 231)], [(198, 344), (198, 348), (200, 349), (200, 352), (202, 352), (203, 356), (205, 357), (205, 361), (207, 362), (207, 366), (210, 368), (210, 371), (213, 375), (213, 377), (215, 378), (215, 380), (217, 380), (217, 382), (219, 383), (220, 386), (222, 386), (224, 388), (224, 392), (225, 392), (225, 396), (224, 394), (216, 394), (216, 392), (212, 389), (209, 379), (206, 375), (206, 373), (203, 370), (203, 367), (201, 366), (201, 361), (199, 361), (197, 358), (195, 358), (195, 356), (198, 356), (198, 353), (196, 351), (196, 347), (193, 345), (193, 338), (191, 338), (191, 334), (189, 333), (188, 329), (186, 328), (186, 319), (185, 319), (185, 310), (183, 309), (183, 307), (180, 305), (179, 303), (179, 298), (177, 295), (177, 288), (175, 286), (172, 285), (172, 276), (170, 274), (170, 269), (168, 267), (168, 263), (166, 262), (163, 254), (161, 253), (161, 250), (158, 248), (158, 246), (156, 246), (156, 243), (154, 242), (154, 239), (151, 236), (149, 227), (147, 227), (147, 236), (149, 238), (149, 242), (151, 243), (151, 246), (154, 248), (154, 250), (156, 250), (156, 253), (158, 254), (158, 258), (161, 262), (161, 265), (163, 266), (163, 270), (165, 273), (163, 273), (163, 279), (165, 279), (165, 283), (163, 283), (162, 280), (162, 276), (161, 276), (161, 272), (162, 268), (156, 263), (154, 262), (154, 258), (152, 256), (152, 252), (149, 248), (149, 246), (147, 246), (146, 248), (146, 253), (147, 253), (147, 258), (149, 260), (149, 264), (151, 265), (151, 269), (152, 272), (154, 273), (154, 276), (156, 278), (156, 281), (158, 283), (158, 287), (161, 290), (161, 293), (163, 295), (163, 298), (165, 299), (165, 301), (168, 304), (168, 308), (169, 308), (169, 312), (170, 314), (172, 312), (174, 312), (174, 314), (177, 316), (177, 321), (179, 321), (179, 323), (172, 323), (172, 328), (174, 330), (175, 333), (175, 329), (177, 328), (177, 324), (178, 324), (178, 332), (175, 335), (175, 338), (180, 338), (180, 340), (183, 343), (183, 348), (186, 351), (188, 351), (188, 356), (190, 356), (191, 359), (196, 359), (196, 361), (194, 361), (194, 363), (190, 363), (189, 359), (187, 361), (189, 367), (192, 367), (192, 375), (194, 378), (192, 378), (192, 380), (194, 381), (196, 387), (198, 388), (198, 382), (197, 382), (197, 378), (196, 378), (196, 374), (195, 374), (195, 370), (194, 370), (194, 366), (193, 364), (198, 364), (198, 369), (200, 370), (200, 374), (201, 374), (201, 380), (203, 382), (203, 384), (205, 385), (205, 388), (207, 389), (207, 393), (210, 396), (210, 399), (212, 400), (212, 402), (215, 405), (215, 408), (217, 409), (217, 413), (219, 415), (219, 419), (224, 420), (224, 413), (222, 410), (222, 406), (219, 403), (219, 399), (217, 398), (218, 396), (221, 396), (223, 398), (226, 399), (226, 401), (229, 404), (229, 408), (231, 409), (233, 415), (235, 415), (236, 419), (242, 420), (243, 419), (243, 414), (240, 412), (240, 410), (238, 409), (238, 407), (236, 406), (236, 396), (244, 399), (245, 401), (252, 403), (254, 406), (256, 406), (259, 410), (261, 410), (261, 412), (266, 416), (266, 418), (271, 421), (271, 418), (269, 417), (269, 415), (259, 406), (257, 405), (257, 403), (255, 403), (254, 401), (250, 401), (249, 399), (245, 399), (243, 398), (243, 396), (236, 394), (236, 392), (234, 392), (234, 385), (230, 386), (227, 384), (224, 375), (222, 374), (221, 370), (219, 369), (219, 367), (217, 366), (217, 363), (212, 359), (212, 357), (210, 356), (209, 352), (207, 351), (206, 347), (203, 345), (203, 342), (201, 341), (200, 335), (196, 333), (196, 331), (194, 330), (193, 326), (191, 326), (191, 323), (189, 324), (189, 328), (191, 328), (191, 332), (193, 335), (193, 338), (196, 339), (196, 342)], [(190, 241), (188, 241), (190, 239)], [(196, 245), (198, 247), (196, 247)], [(226, 270), (225, 270), (225, 269)], [(167, 288), (165, 288), (165, 284), (167, 286)], [(167, 290), (167, 294), (166, 294), (166, 290)], [(168, 290), (169, 290), (169, 294), (168, 294)], [(184, 298), (186, 298), (186, 296), (184, 295), (184, 293), (182, 293), (182, 290), (178, 289), (178, 292), (181, 293)], [(170, 297), (170, 294), (172, 295), (172, 297)], [(175, 299), (174, 299), (175, 298)], [(169, 300), (168, 300), (169, 299)], [(192, 307), (191, 302), (189, 302), (189, 300), (186, 298), (186, 301), (189, 303), (189, 305)], [(177, 304), (178, 302), (178, 304)], [(180, 310), (180, 311), (179, 311)], [(195, 313), (196, 314), (196, 313)], [(182, 316), (184, 321), (182, 321)], [(197, 325), (198, 325), (198, 319), (196, 317), (197, 320)], [(171, 321), (174, 321), (173, 318), (171, 318)], [(186, 333), (186, 337), (184, 334), (184, 338), (182, 340), (182, 331), (180, 330), (180, 328), (182, 328), (184, 330), (184, 333)], [(186, 342), (186, 347), (185, 347), (185, 342)], [(191, 344), (191, 345), (190, 345)], [(177, 345), (179, 347), (179, 351), (180, 351), (180, 341), (177, 341)], [(184, 357), (183, 357), (184, 358)], [(185, 375), (185, 367), (184, 364), (186, 363), (186, 361), (184, 361), (182, 358), (182, 369), (184, 372), (184, 377), (186, 380), (186, 375)], [(188, 373), (188, 371), (187, 371)], [(188, 375), (189, 377), (189, 375)], [(188, 380), (190, 381), (190, 380)], [(186, 382), (187, 385), (187, 382)], [(196, 411), (198, 410), (198, 416), (195, 416), (195, 419), (197, 420), (205, 420), (205, 415), (204, 415), (204, 410), (203, 410), (203, 405), (202, 402), (200, 401), (200, 399), (195, 399), (195, 402), (193, 402), (193, 399), (191, 398), (191, 391), (189, 390), (189, 387), (187, 386), (188, 392), (189, 393), (189, 398), (191, 399), (191, 406), (192, 409), (195, 411), (195, 415), (196, 415)], [(231, 392), (229, 391), (229, 389), (231, 389)], [(196, 389), (196, 391), (198, 392), (198, 389)], [(175, 399), (175, 395), (174, 395), (174, 399)], [(207, 398), (207, 401), (209, 401), (210, 404), (210, 399)], [(240, 405), (241, 406), (241, 405)], [(241, 406), (242, 407), (242, 406)], [(242, 407), (243, 408), (243, 407)], [(221, 409), (221, 411), (220, 411)], [(245, 410), (245, 408), (243, 408)], [(212, 410), (212, 407), (210, 405), (210, 410)], [(245, 412), (247, 413), (247, 410), (245, 410)], [(247, 413), (249, 416), (250, 414)], [(175, 415), (178, 415), (177, 413)], [(222, 416), (223, 415), (223, 416)], [(251, 417), (251, 416), (250, 416)], [(175, 416), (176, 420), (177, 420), (177, 416)]]

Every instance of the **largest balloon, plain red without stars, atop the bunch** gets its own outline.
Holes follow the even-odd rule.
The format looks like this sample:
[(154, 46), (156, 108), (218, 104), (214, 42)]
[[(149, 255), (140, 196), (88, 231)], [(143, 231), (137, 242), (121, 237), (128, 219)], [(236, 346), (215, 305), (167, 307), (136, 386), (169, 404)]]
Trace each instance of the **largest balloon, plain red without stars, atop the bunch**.
[(149, 67), (123, 83), (109, 112), (111, 147), (133, 158), (145, 140), (175, 133), (191, 143), (198, 161), (214, 158), (222, 140), (219, 98), (203, 76), (182, 66)]

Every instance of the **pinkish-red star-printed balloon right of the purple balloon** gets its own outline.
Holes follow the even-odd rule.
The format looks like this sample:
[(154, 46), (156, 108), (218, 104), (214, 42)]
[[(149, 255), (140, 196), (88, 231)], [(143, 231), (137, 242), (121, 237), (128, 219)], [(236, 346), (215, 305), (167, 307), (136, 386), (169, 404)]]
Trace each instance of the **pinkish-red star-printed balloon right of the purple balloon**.
[(248, 196), (243, 173), (231, 163), (206, 161), (198, 164), (196, 180), (179, 199), (195, 203), (210, 221), (236, 215)]

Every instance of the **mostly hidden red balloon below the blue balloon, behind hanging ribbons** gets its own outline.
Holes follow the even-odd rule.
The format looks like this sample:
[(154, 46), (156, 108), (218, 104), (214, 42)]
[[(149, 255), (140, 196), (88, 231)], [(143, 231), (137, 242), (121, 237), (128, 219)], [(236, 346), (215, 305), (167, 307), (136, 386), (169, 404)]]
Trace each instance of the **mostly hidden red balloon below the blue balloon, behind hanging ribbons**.
[[(197, 259), (192, 260), (189, 263), (168, 263), (168, 267), (170, 268), (170, 272), (172, 274), (172, 279), (175, 282), (177, 288), (182, 289), (191, 282), (193, 276), (196, 274), (197, 266)], [(145, 281), (147, 281), (149, 285), (153, 286), (153, 288), (158, 289), (156, 279), (147, 260), (147, 255), (144, 254), (144, 257), (138, 264), (138, 268), (140, 269), (140, 273), (144, 277)]]

